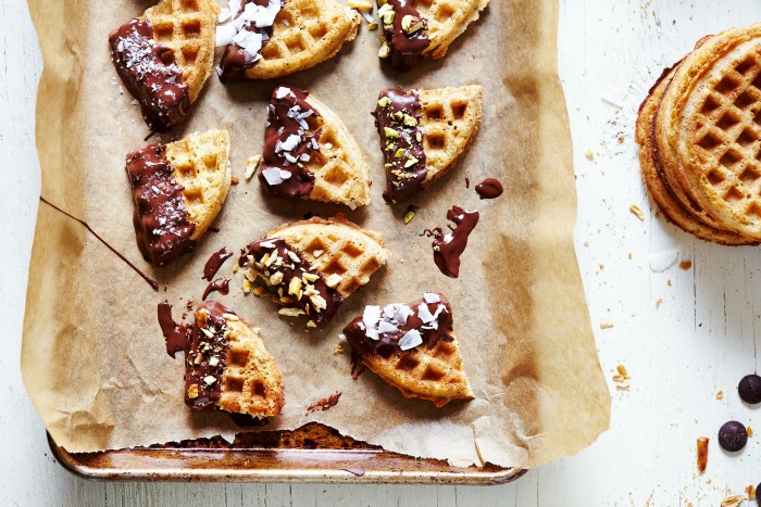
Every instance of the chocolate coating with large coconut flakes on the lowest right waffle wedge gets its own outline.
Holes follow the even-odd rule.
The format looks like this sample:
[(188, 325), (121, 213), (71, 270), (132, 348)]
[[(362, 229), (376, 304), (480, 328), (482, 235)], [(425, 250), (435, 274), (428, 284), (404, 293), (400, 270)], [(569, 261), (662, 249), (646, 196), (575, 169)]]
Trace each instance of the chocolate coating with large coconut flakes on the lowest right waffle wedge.
[(366, 306), (364, 314), (344, 328), (344, 335), (359, 356), (394, 354), (417, 346), (433, 348), (439, 341), (451, 342), (452, 308), (438, 293), (426, 293), (408, 304), (384, 308)]

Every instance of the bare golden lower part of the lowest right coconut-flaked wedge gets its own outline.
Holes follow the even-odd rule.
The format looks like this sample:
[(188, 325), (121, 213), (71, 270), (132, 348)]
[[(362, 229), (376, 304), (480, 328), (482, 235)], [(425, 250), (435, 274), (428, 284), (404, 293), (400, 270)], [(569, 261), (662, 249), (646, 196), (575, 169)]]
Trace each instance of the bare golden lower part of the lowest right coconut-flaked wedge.
[(397, 352), (388, 359), (363, 355), (362, 363), (397, 388), (406, 397), (419, 397), (441, 407), (452, 400), (473, 400), (473, 391), (462, 369), (457, 337), (439, 341), (433, 348), (417, 346)]

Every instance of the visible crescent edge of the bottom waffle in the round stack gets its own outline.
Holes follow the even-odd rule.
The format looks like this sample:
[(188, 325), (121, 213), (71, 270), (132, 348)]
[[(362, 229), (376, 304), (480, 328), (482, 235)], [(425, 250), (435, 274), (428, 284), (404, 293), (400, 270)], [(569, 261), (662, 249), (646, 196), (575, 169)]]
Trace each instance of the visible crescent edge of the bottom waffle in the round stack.
[(658, 113), (658, 105), (676, 72), (677, 65), (663, 72), (658, 83), (650, 90), (650, 94), (643, 102), (637, 117), (636, 141), (640, 147), (639, 163), (648, 193), (664, 216), (686, 232), (693, 233), (702, 240), (725, 245), (754, 244), (754, 241), (749, 238), (733, 231), (711, 227), (703, 223), (699, 216), (696, 216), (689, 208), (685, 208), (682, 205), (671, 187), (669, 187), (669, 183), (663, 179), (663, 168), (661, 167), (653, 140), (653, 124)]

